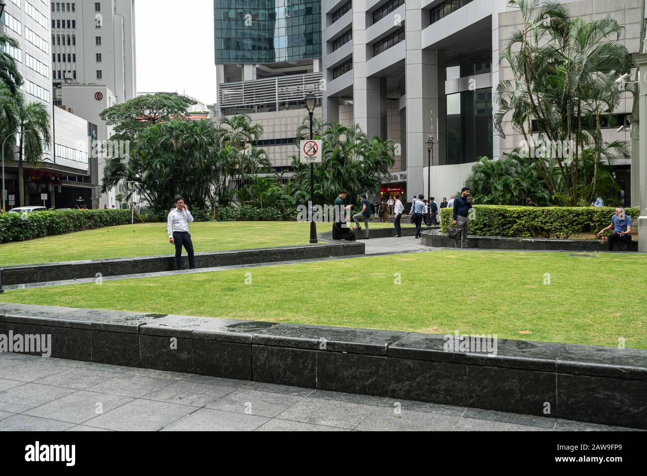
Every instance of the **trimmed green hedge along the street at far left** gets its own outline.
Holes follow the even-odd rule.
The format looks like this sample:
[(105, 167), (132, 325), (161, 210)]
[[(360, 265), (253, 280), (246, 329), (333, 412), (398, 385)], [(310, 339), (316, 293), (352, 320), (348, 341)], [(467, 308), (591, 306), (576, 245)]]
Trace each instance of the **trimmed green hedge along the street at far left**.
[(1, 213), (0, 243), (25, 241), (58, 233), (124, 225), (130, 210), (47, 210), (32, 213)]

